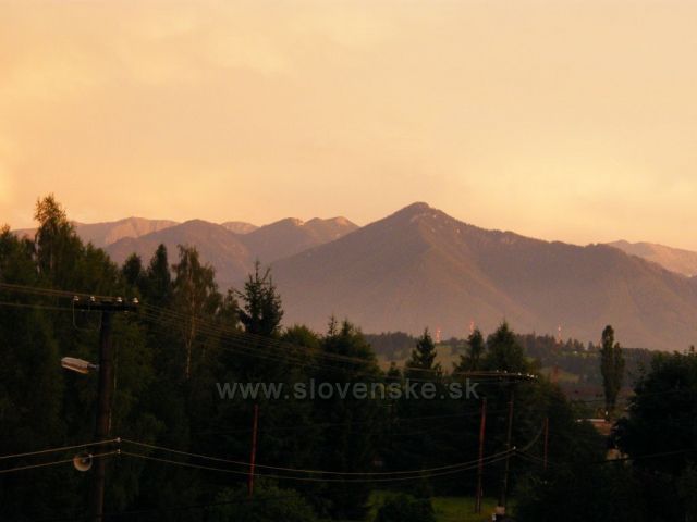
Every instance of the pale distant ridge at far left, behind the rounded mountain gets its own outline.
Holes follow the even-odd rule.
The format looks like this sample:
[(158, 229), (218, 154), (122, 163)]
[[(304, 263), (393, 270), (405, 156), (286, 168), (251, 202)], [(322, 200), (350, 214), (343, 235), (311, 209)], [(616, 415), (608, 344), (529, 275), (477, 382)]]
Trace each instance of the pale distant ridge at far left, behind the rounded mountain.
[[(103, 248), (124, 237), (140, 237), (152, 232), (162, 231), (178, 223), (169, 220), (147, 220), (145, 217), (126, 217), (119, 221), (103, 223), (73, 222), (75, 232), (84, 241), (90, 241), (95, 247)], [(15, 231), (20, 236), (34, 237), (36, 228)]]

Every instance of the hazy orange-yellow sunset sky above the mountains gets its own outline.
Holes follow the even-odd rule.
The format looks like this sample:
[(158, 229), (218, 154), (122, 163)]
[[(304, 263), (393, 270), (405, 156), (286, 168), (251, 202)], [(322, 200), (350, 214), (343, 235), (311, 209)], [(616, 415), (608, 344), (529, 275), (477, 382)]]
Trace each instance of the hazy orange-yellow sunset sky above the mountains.
[(0, 0), (0, 223), (414, 201), (697, 250), (697, 2)]

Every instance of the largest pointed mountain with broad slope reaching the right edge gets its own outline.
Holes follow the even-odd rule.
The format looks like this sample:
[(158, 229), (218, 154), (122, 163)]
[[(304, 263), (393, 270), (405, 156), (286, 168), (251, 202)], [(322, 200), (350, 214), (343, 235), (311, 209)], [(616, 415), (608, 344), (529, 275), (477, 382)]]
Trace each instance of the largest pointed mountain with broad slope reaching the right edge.
[(323, 328), (331, 313), (367, 332), (521, 332), (598, 340), (608, 323), (625, 345), (697, 341), (697, 284), (616, 248), (578, 247), (485, 231), (425, 203), (273, 263), (289, 323)]

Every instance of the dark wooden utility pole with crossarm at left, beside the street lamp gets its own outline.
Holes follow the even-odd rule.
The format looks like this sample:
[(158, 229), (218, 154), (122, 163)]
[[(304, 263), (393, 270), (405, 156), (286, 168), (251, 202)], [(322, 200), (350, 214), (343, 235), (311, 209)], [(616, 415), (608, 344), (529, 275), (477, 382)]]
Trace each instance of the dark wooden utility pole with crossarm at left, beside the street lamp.
[[(107, 440), (111, 425), (111, 396), (113, 393), (113, 351), (111, 343), (111, 319), (118, 312), (136, 310), (137, 300), (125, 302), (121, 298), (114, 300), (74, 301), (76, 310), (100, 311), (101, 326), (99, 328), (99, 387), (97, 390), (97, 423), (95, 440)], [(89, 515), (95, 522), (101, 522), (105, 512), (105, 480), (107, 461), (95, 459), (95, 471), (89, 495)]]

